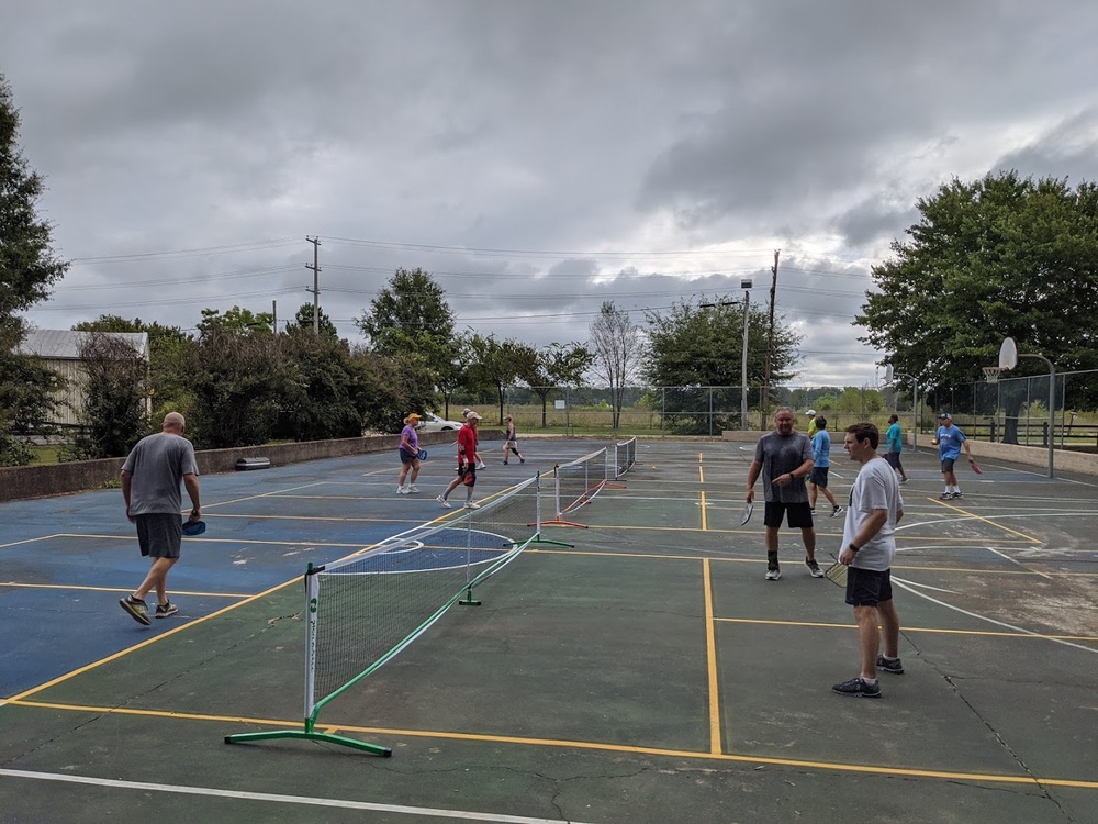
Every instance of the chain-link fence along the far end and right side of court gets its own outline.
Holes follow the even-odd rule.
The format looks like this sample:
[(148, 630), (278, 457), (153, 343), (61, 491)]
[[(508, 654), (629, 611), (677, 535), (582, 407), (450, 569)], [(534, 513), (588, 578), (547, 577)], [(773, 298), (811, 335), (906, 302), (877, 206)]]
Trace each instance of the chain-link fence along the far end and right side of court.
[[(512, 415), (523, 433), (703, 436), (719, 436), (725, 430), (769, 430), (780, 405), (797, 412), (799, 430), (807, 428), (809, 409), (825, 415), (832, 432), (858, 421), (884, 426), (895, 412), (905, 430), (928, 435), (938, 426), (938, 414), (948, 411), (976, 439), (1046, 446), (1051, 431), (1057, 447), (1098, 450), (1098, 404), (1088, 402), (1098, 398), (1098, 371), (1056, 375), (1051, 398), (1049, 389), (1047, 375), (974, 381), (920, 390), (918, 409), (912, 409), (910, 389), (773, 387), (763, 409), (758, 387), (747, 392), (740, 387), (506, 387), (502, 404), (497, 396), (456, 394), (450, 407), (477, 407), (485, 415), (482, 426), (502, 425), (503, 416)], [(1073, 402), (1080, 407), (1068, 405)]]

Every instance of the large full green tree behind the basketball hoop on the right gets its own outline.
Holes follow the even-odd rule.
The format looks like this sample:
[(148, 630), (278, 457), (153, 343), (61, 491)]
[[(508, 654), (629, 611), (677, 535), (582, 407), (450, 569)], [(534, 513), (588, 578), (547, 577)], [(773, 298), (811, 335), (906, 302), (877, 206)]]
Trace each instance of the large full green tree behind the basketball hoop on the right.
[[(910, 240), (872, 269), (859, 339), (928, 392), (971, 385), (1005, 337), (1057, 371), (1098, 368), (1098, 186), (1005, 171), (954, 179), (917, 207)], [(1026, 359), (1018, 372), (1041, 368)], [(1078, 391), (1068, 404), (1098, 402), (1093, 381)]]

